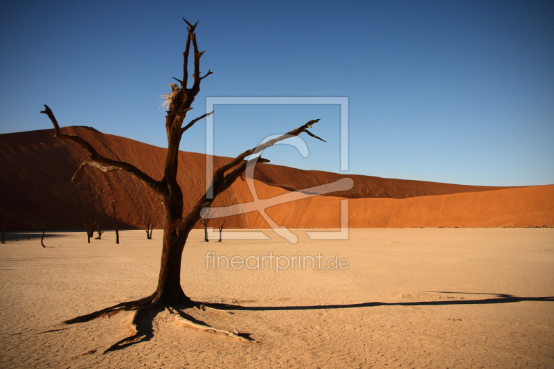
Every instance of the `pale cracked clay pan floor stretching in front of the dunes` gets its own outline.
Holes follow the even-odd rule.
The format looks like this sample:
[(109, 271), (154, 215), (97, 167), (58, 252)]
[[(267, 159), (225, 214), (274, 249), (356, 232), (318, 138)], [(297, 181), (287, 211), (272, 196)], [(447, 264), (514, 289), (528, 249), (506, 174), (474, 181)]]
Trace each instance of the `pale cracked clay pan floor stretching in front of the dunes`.
[[(0, 366), (554, 366), (552, 228), (356, 229), (350, 240), (337, 241), (310, 241), (296, 230), (298, 244), (265, 233), (271, 240), (206, 244), (203, 231), (193, 231), (181, 276), (194, 300), (259, 307), (190, 314), (260, 343), (185, 327), (162, 311), (150, 325), (150, 340), (105, 355), (102, 350), (131, 332), (132, 312), (60, 322), (152, 293), (161, 231), (154, 240), (145, 240), (144, 231), (122, 232), (120, 245), (113, 232), (91, 244), (84, 232), (56, 233), (45, 239), (48, 249), (37, 238), (19, 234), (15, 242), (8, 235), (0, 245)], [(214, 271), (206, 270), (208, 251), (243, 258), (321, 251), (325, 261), (338, 255), (350, 267)], [(370, 304), (376, 302), (389, 305)], [(91, 350), (97, 351), (85, 354)]]

